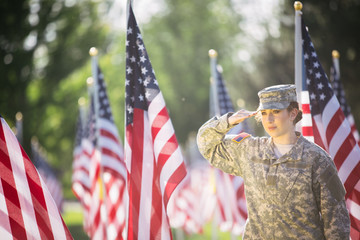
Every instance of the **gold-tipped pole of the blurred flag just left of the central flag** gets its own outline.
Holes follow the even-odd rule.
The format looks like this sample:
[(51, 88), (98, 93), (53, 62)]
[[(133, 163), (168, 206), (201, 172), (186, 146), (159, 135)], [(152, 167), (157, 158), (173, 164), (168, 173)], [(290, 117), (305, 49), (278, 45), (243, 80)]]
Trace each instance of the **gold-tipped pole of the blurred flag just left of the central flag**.
[[(94, 79), (94, 108), (95, 108), (95, 137), (97, 139), (95, 149), (100, 152), (99, 149), (99, 139), (100, 139), (100, 124), (99, 124), (99, 78), (98, 78), (98, 66), (97, 66), (97, 54), (98, 50), (95, 47), (90, 48), (89, 54), (91, 56), (91, 70), (92, 75)], [(99, 154), (99, 167), (100, 167), (100, 179), (101, 179), (101, 187), (102, 187), (102, 194), (103, 194), (103, 206), (105, 207), (105, 231), (106, 231), (106, 239), (108, 239), (108, 219), (107, 219), (107, 201), (106, 201), (106, 189), (105, 189), (105, 183), (104, 183), (104, 171), (103, 166), (101, 163), (101, 154)], [(100, 208), (100, 217), (103, 217), (103, 214), (101, 212)]]

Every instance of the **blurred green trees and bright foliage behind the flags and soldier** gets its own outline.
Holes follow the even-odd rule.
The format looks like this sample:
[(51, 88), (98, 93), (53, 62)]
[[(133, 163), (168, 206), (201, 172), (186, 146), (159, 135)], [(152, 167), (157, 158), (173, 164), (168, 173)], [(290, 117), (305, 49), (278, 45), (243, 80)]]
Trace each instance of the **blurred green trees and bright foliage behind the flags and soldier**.
[[(134, 13), (181, 145), (186, 146), (209, 118), (209, 49), (218, 52), (237, 108), (255, 110), (259, 90), (294, 83), (293, 3), (134, 1)], [(359, 124), (360, 0), (302, 3), (305, 23), (328, 74), (332, 50), (340, 52), (341, 80)], [(125, 18), (125, 0), (0, 2), (0, 113), (10, 127), (15, 127), (16, 113), (22, 113), (25, 151), (31, 153), (30, 140), (37, 137), (66, 200), (75, 200), (72, 154), (78, 99), (87, 96), (86, 79), (91, 76), (91, 47), (99, 50), (114, 120), (124, 136)], [(256, 123), (250, 124), (257, 128)]]

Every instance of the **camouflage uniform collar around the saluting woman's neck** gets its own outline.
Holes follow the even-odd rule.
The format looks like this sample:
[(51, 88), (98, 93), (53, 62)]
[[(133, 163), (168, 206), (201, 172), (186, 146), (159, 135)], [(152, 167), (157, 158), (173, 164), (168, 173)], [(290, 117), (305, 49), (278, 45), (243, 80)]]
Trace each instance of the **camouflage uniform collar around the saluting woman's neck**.
[(277, 159), (274, 152), (274, 142), (272, 137), (268, 138), (265, 146), (264, 146), (264, 154), (262, 155), (263, 160), (269, 159), (277, 159), (275, 163), (282, 163), (288, 161), (297, 161), (302, 158), (303, 150), (304, 150), (304, 141), (305, 138), (301, 135), (300, 132), (295, 132), (298, 136), (298, 139), (294, 146), (290, 149), (290, 151), (284, 154), (282, 157)]

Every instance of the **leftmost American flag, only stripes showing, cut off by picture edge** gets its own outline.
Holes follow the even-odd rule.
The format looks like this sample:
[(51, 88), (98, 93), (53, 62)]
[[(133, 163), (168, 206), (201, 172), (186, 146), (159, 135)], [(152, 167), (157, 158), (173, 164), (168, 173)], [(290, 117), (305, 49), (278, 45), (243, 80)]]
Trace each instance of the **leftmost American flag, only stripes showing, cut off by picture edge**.
[(1, 239), (72, 239), (45, 182), (0, 120)]

